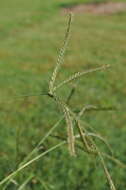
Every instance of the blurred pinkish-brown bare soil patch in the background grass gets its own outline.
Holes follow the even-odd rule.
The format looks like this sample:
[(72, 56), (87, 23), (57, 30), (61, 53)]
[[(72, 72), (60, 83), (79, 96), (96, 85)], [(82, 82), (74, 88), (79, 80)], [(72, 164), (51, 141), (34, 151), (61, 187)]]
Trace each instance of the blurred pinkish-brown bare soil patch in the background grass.
[(97, 4), (80, 4), (63, 8), (63, 11), (72, 11), (73, 13), (113, 14), (118, 12), (126, 12), (126, 3), (107, 2)]

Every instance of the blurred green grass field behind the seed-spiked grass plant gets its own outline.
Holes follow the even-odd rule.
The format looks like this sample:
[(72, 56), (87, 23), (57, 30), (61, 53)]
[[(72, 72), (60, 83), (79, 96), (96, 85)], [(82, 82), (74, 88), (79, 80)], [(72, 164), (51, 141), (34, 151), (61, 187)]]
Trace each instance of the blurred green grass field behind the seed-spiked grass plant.
[[(92, 0), (93, 1), (93, 0)], [(5, 0), (0, 6), (0, 179), (15, 170), (61, 114), (54, 102), (39, 94), (47, 89), (58, 50), (61, 47), (67, 15), (61, 6), (85, 1), (44, 2)], [(91, 2), (91, 0), (90, 0)], [(113, 0), (114, 2), (114, 0)], [(125, 1), (124, 1), (125, 2)], [(76, 14), (71, 39), (59, 80), (77, 71), (110, 64), (110, 69), (89, 74), (78, 82), (70, 106), (116, 107), (116, 111), (90, 111), (85, 121), (102, 134), (114, 155), (126, 163), (126, 12), (112, 15)], [(76, 84), (76, 83), (75, 83)], [(66, 99), (71, 84), (59, 92)], [(19, 97), (18, 97), (19, 96)], [(59, 133), (65, 134), (64, 123)], [(18, 146), (17, 147), (17, 141)], [(44, 149), (57, 140), (50, 139)], [(18, 158), (17, 158), (17, 148)], [(103, 147), (102, 147), (103, 148)], [(104, 148), (103, 148), (104, 149)], [(107, 166), (118, 190), (125, 190), (125, 170), (112, 162)], [(33, 179), (26, 190), (108, 190), (99, 160), (85, 153), (69, 156), (64, 146), (22, 171), (22, 184)], [(7, 189), (17, 189), (10, 184)]]

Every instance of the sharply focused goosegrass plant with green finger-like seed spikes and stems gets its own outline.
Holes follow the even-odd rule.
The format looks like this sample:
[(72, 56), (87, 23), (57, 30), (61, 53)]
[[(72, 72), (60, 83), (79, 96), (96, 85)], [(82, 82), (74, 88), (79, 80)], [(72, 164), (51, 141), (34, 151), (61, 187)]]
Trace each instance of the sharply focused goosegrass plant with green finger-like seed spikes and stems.
[[(69, 107), (69, 101), (71, 100), (75, 92), (75, 88), (76, 88), (75, 86), (72, 88), (70, 94), (68, 95), (66, 102), (63, 101), (61, 97), (59, 97), (56, 93), (57, 90), (61, 88), (63, 85), (66, 85), (69, 82), (75, 81), (85, 74), (96, 72), (96, 71), (102, 71), (109, 68), (109, 65), (104, 65), (98, 68), (90, 69), (88, 71), (77, 72), (74, 75), (70, 76), (68, 79), (59, 83), (58, 85), (55, 85), (57, 75), (59, 74), (59, 70), (63, 64), (64, 54), (65, 54), (67, 44), (69, 41), (71, 23), (72, 23), (72, 14), (70, 13), (63, 46), (59, 52), (56, 66), (52, 73), (51, 80), (49, 81), (49, 90), (47, 93), (40, 94), (40, 95), (47, 95), (48, 97), (51, 97), (56, 102), (56, 104), (59, 106), (61, 110), (62, 117), (48, 131), (48, 133), (40, 140), (40, 142), (36, 145), (36, 147), (32, 150), (32, 152), (30, 152), (24, 158), (24, 160), (18, 165), (18, 168), (14, 172), (12, 172), (10, 175), (5, 177), (2, 181), (0, 181), (0, 186), (3, 184), (8, 185), (12, 180), (14, 180), (14, 177), (16, 177), (16, 175), (19, 172), (21, 172), (23, 169), (31, 165), (33, 162), (39, 160), (46, 154), (50, 153), (51, 151), (54, 151), (55, 149), (63, 146), (64, 144), (68, 144), (68, 150), (71, 156), (77, 155), (76, 149), (78, 148), (86, 152), (89, 156), (92, 154), (98, 156), (111, 190), (116, 190), (116, 187), (106, 167), (104, 158), (108, 158), (109, 160), (112, 160), (113, 162), (118, 164), (120, 167), (126, 168), (125, 164), (121, 163), (118, 159), (113, 157), (111, 147), (107, 143), (107, 141), (101, 135), (97, 134), (97, 132), (88, 123), (86, 123), (85, 121), (81, 119), (81, 117), (85, 114), (86, 110), (97, 109), (97, 107), (89, 105), (89, 106), (83, 106), (82, 109), (79, 111), (79, 113), (72, 111), (71, 108)], [(63, 120), (65, 120), (66, 127), (67, 127), (67, 135), (65, 136), (65, 138), (53, 135), (54, 130), (56, 130), (56, 128), (60, 125), (60, 123)], [(77, 134), (75, 134), (75, 129), (76, 131), (78, 131)], [(40, 146), (46, 141), (46, 139), (49, 136), (58, 138), (61, 142), (56, 144), (55, 146), (52, 146), (51, 148), (47, 149), (41, 154), (38, 154), (36, 157), (32, 158), (34, 153), (38, 152), (38, 150), (40, 149)], [(95, 139), (99, 139), (101, 143), (104, 143), (108, 147), (110, 154), (102, 152), (100, 148), (97, 146)], [(32, 176), (26, 179), (26, 181), (24, 181), (24, 183), (20, 186), (20, 189), (22, 189), (22, 187), (24, 187), (24, 185), (27, 184), (31, 178)]]

